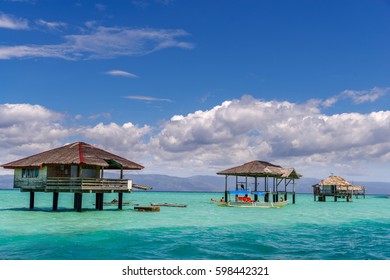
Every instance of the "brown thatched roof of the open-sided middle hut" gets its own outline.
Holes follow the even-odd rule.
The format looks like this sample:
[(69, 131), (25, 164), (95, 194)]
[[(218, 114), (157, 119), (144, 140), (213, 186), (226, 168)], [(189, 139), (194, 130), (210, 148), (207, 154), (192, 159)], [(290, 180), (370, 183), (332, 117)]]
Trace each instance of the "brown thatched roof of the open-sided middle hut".
[(278, 177), (299, 179), (302, 175), (298, 174), (294, 168), (283, 168), (266, 161), (255, 160), (243, 165), (232, 167), (220, 172), (218, 175), (234, 175), (249, 177)]

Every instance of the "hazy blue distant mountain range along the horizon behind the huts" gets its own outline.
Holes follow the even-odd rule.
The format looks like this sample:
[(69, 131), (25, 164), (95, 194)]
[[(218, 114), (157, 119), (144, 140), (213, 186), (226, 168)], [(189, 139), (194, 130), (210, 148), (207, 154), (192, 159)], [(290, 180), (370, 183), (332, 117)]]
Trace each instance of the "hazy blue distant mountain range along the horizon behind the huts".
[[(0, 189), (12, 189), (13, 178), (13, 175), (0, 176)], [(136, 184), (153, 187), (153, 191), (223, 192), (225, 189), (224, 176), (199, 175), (183, 178), (158, 174), (134, 174), (131, 178)], [(297, 193), (312, 193), (312, 185), (319, 181), (320, 179), (316, 178), (296, 180), (295, 191)], [(367, 194), (390, 194), (390, 182), (354, 183), (366, 187)]]

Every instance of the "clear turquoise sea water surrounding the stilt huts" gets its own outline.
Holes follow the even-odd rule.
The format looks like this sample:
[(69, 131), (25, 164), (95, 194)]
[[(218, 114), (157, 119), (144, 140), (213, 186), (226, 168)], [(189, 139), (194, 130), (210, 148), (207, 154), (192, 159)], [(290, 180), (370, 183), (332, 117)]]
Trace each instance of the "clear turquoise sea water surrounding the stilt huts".
[[(85, 194), (81, 213), (73, 195), (0, 191), (0, 259), (8, 260), (383, 260), (390, 259), (390, 199), (314, 202), (298, 194), (280, 209), (227, 208), (210, 203), (221, 193), (136, 192), (124, 201), (186, 203), (145, 213), (124, 206), (94, 210)], [(105, 201), (116, 198), (105, 195)]]

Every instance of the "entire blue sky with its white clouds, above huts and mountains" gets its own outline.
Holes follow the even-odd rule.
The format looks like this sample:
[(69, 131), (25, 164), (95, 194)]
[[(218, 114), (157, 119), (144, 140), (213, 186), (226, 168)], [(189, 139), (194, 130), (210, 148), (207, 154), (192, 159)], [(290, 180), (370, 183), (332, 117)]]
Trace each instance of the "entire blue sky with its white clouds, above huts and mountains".
[(390, 180), (389, 50), (385, 0), (0, 0), (0, 162), (82, 140)]

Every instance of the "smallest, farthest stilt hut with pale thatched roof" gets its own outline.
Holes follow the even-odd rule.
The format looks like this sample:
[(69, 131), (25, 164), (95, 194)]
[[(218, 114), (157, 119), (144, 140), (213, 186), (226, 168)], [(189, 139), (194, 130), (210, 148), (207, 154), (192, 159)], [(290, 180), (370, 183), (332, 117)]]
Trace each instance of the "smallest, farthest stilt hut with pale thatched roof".
[(356, 198), (363, 196), (365, 198), (366, 189), (362, 186), (354, 186), (340, 176), (329, 176), (313, 186), (314, 201), (326, 201), (326, 197), (333, 197), (333, 201), (339, 198), (347, 202), (352, 201), (353, 196)]

